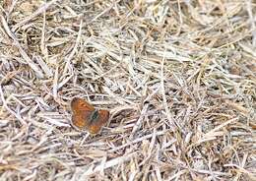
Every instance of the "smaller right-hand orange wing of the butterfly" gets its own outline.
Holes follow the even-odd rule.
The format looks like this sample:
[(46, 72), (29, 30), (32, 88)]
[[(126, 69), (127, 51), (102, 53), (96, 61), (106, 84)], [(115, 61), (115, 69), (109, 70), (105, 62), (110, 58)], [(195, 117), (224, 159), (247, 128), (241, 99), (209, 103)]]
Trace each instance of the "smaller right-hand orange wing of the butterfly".
[(109, 119), (109, 111), (108, 110), (98, 110), (97, 118), (91, 121), (91, 124), (88, 126), (89, 132), (91, 134), (96, 134), (100, 131), (101, 127), (108, 121)]

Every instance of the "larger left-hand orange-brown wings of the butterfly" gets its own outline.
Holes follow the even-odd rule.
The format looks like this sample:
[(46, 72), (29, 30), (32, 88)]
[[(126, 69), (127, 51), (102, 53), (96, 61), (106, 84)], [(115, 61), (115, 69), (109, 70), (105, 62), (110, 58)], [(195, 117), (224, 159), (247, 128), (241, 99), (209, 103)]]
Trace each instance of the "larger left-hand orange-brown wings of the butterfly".
[(72, 125), (79, 129), (85, 129), (90, 124), (90, 117), (95, 107), (82, 98), (75, 97), (71, 101)]

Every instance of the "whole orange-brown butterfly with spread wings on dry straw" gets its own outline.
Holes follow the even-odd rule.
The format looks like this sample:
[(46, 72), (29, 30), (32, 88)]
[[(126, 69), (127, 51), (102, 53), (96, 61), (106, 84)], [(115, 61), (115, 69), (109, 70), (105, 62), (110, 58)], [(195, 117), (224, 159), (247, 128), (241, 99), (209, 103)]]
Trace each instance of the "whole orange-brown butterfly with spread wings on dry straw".
[(109, 119), (109, 111), (96, 109), (88, 101), (75, 97), (71, 101), (73, 112), (71, 124), (79, 130), (87, 130), (97, 134)]

